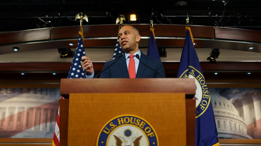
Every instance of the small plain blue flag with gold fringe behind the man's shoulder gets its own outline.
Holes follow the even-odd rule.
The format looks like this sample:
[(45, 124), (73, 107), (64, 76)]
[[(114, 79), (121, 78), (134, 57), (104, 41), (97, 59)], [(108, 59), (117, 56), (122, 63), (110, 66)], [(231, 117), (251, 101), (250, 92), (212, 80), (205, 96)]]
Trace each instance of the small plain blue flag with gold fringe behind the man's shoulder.
[(150, 28), (151, 31), (151, 36), (150, 36), (150, 41), (149, 41), (149, 45), (148, 45), (148, 51), (147, 51), (147, 56), (156, 58), (158, 60), (160, 60), (160, 54), (158, 51), (158, 47), (155, 41), (155, 37), (154, 37), (154, 28)]

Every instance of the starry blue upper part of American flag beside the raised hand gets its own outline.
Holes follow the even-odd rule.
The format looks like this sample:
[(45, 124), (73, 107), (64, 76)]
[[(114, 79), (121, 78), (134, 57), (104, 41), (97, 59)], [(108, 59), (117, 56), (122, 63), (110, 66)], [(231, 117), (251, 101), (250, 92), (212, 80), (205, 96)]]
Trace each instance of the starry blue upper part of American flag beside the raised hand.
[(77, 48), (67, 78), (86, 78), (86, 71), (81, 67), (81, 58), (83, 56), (85, 56), (84, 43), (81, 35), (79, 35)]

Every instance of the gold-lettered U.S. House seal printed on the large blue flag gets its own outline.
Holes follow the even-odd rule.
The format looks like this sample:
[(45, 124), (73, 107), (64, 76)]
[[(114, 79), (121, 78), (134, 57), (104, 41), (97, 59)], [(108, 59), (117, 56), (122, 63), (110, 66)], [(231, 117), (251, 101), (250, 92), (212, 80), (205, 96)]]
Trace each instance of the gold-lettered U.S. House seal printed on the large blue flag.
[[(187, 75), (187, 72), (189, 75)], [(186, 69), (180, 78), (194, 78), (196, 84), (196, 95), (193, 99), (196, 99), (196, 118), (200, 117), (206, 109), (209, 107), (210, 95), (209, 90), (206, 85), (204, 76), (200, 71), (195, 69), (193, 66), (189, 66), (189, 69)]]

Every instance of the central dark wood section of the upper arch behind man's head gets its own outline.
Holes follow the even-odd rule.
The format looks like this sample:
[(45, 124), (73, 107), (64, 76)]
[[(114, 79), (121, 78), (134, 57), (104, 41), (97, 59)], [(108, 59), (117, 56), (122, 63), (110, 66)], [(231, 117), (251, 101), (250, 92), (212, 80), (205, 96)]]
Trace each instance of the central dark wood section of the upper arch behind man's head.
[[(123, 25), (124, 26), (124, 25)], [(141, 36), (150, 36), (150, 25), (132, 25), (139, 30)], [(185, 25), (153, 25), (156, 36), (185, 37)], [(117, 37), (119, 25), (85, 25), (84, 37)], [(193, 36), (198, 38), (214, 38), (214, 27), (191, 26)], [(51, 39), (78, 38), (79, 26), (57, 27), (51, 29)], [(203, 32), (203, 33), (202, 33)]]

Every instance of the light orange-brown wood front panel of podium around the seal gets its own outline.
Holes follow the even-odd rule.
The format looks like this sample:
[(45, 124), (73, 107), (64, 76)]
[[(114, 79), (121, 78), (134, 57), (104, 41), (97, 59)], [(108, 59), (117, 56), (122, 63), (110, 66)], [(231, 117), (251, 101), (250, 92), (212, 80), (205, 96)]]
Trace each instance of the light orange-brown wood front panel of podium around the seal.
[(102, 127), (123, 114), (148, 121), (159, 145), (186, 145), (184, 93), (74, 93), (69, 102), (68, 146), (95, 146)]

